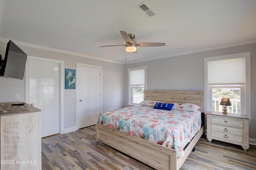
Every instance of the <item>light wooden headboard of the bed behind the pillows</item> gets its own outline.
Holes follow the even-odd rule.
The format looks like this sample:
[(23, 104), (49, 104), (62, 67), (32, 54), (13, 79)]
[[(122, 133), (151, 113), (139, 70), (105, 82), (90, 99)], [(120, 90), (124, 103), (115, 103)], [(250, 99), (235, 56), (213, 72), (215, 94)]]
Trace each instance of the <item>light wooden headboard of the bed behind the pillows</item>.
[(172, 91), (172, 90), (144, 90), (144, 100), (155, 100), (165, 103), (192, 103), (200, 106), (204, 112), (204, 92), (202, 91)]

